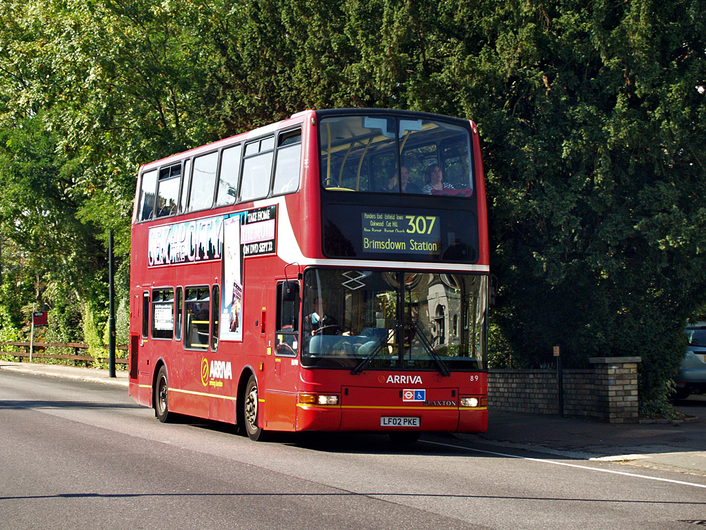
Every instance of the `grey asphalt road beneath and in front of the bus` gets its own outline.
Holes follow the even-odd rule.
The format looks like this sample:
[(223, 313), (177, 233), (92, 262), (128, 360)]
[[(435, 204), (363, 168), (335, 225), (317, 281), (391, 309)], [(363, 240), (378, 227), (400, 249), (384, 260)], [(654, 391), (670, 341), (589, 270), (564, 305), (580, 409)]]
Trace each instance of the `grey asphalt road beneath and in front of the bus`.
[(0, 371), (0, 529), (695, 529), (706, 478), (425, 435), (256, 443)]

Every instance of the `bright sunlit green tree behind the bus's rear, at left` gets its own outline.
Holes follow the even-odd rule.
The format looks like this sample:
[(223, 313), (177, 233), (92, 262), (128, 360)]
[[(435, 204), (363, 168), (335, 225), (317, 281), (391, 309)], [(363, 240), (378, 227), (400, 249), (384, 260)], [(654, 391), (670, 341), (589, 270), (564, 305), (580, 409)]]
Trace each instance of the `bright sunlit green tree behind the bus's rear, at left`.
[(208, 120), (195, 119), (210, 103), (208, 54), (191, 24), (199, 8), (188, 0), (0, 6), (8, 21), (0, 28), (0, 231), (23, 249), (32, 298), (54, 308), (65, 340), (80, 338), (82, 325), (85, 340), (102, 333), (107, 232), (123, 270), (138, 164), (216, 137)]

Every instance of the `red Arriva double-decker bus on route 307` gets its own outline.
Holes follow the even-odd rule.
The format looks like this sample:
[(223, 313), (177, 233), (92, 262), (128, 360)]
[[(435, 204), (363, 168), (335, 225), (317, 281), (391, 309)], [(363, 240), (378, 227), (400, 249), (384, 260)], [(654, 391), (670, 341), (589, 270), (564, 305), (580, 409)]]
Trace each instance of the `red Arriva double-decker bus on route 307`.
[(487, 426), (477, 127), (308, 110), (140, 167), (129, 392), (267, 431)]

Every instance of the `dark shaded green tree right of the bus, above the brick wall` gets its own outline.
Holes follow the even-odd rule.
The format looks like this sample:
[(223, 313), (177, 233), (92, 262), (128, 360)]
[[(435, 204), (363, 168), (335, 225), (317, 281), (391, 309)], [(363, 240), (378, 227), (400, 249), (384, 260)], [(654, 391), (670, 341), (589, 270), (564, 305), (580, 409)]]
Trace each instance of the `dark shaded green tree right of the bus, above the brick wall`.
[(505, 335), (536, 364), (640, 355), (664, 399), (706, 295), (705, 4), (459, 4), (481, 34), (452, 30), (446, 76), (486, 142)]

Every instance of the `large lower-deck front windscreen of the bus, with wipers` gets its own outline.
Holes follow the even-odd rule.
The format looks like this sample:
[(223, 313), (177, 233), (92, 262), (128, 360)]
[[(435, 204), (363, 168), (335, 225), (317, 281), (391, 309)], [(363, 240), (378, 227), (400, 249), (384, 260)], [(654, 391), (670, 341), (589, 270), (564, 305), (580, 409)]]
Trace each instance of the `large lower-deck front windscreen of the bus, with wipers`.
[(486, 366), (486, 276), (309, 269), (304, 366), (479, 370)]

